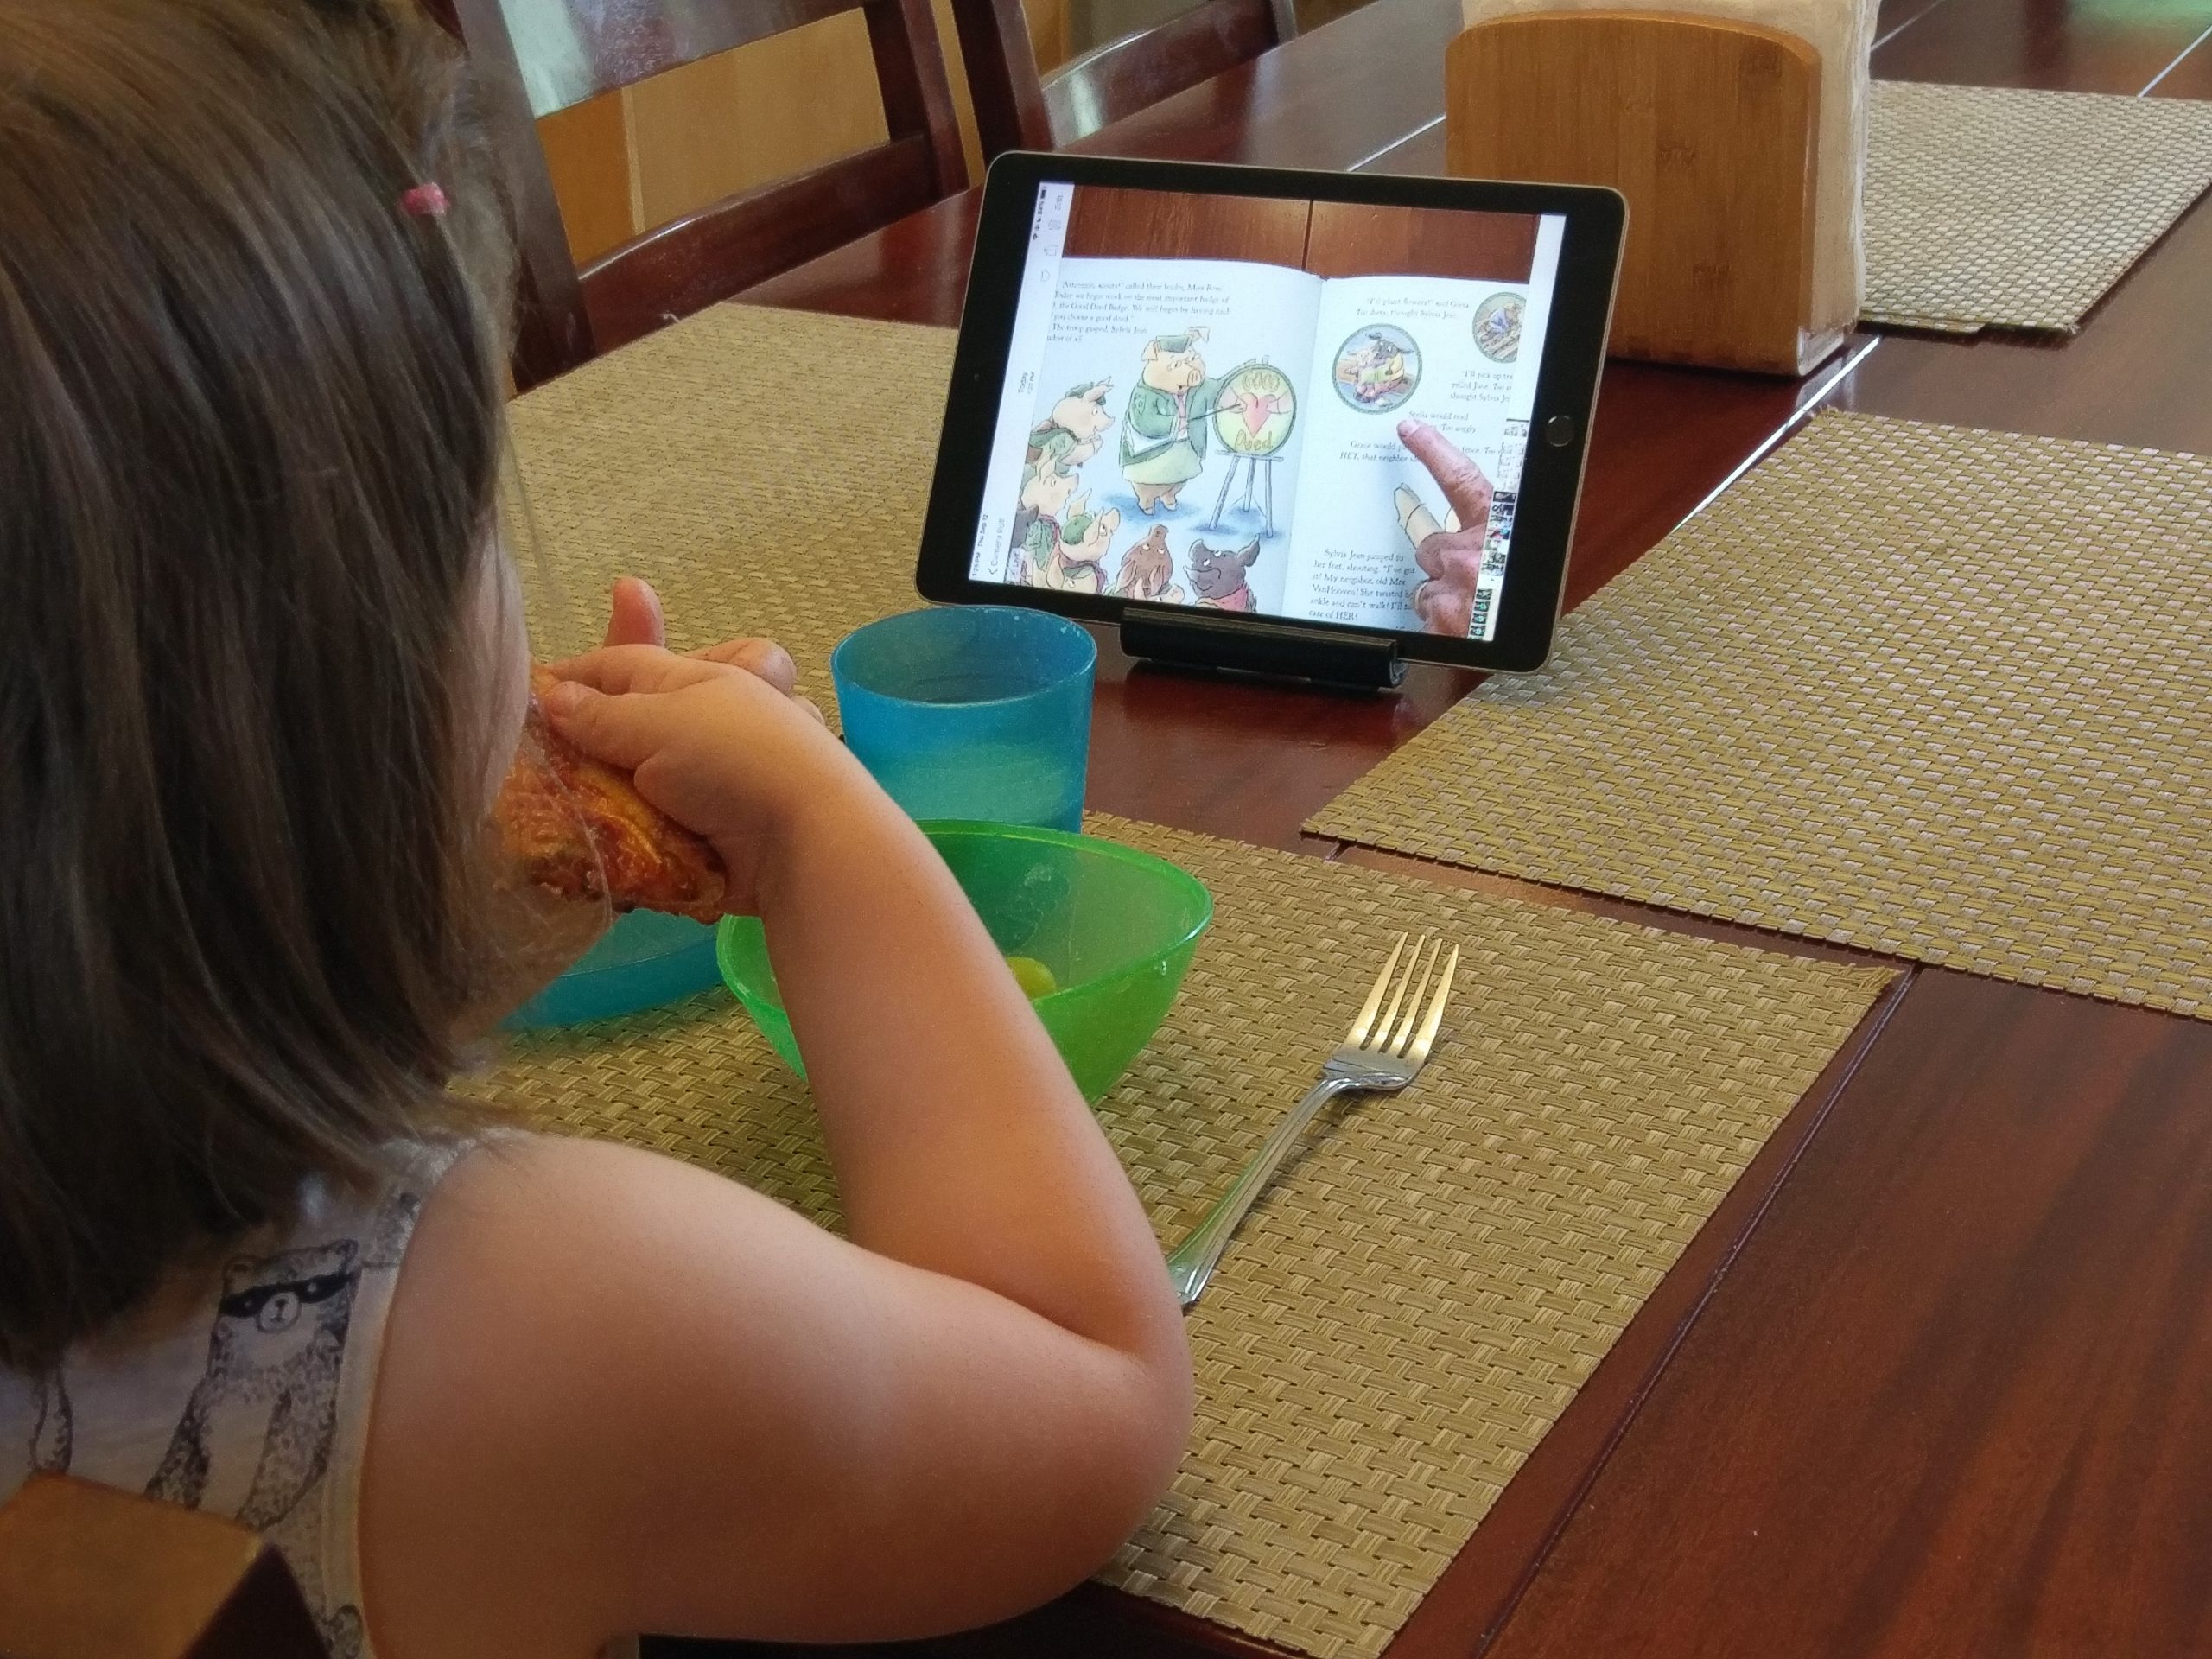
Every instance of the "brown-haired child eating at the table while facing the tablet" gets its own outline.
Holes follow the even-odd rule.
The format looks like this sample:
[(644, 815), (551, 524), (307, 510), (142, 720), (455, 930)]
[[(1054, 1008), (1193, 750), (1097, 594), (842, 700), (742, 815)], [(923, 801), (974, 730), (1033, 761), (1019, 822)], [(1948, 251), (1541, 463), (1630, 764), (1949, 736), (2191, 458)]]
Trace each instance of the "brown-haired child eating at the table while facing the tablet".
[(445, 1088), (526, 650), (442, 40), (11, 0), (0, 64), (0, 1500), (237, 1515), (383, 1659), (922, 1635), (1093, 1571), (1190, 1422), (1157, 1241), (772, 646), (672, 657), (628, 586), (546, 703), (765, 918), (852, 1241)]

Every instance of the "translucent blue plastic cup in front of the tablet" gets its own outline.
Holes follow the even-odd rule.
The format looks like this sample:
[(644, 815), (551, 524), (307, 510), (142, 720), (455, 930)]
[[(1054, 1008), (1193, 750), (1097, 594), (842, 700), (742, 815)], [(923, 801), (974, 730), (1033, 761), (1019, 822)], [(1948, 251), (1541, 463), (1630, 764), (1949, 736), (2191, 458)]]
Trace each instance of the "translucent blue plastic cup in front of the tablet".
[(830, 655), (845, 743), (914, 818), (1082, 830), (1097, 646), (1020, 606), (909, 611)]

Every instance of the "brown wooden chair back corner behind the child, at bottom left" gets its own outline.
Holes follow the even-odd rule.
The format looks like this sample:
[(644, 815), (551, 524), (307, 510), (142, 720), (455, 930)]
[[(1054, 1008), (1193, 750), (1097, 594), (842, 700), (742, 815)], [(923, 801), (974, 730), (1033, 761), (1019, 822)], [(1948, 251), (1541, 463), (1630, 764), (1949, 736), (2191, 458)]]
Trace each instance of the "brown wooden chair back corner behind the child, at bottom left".
[(64, 1475), (0, 1506), (7, 1659), (325, 1659), (283, 1557), (237, 1522)]

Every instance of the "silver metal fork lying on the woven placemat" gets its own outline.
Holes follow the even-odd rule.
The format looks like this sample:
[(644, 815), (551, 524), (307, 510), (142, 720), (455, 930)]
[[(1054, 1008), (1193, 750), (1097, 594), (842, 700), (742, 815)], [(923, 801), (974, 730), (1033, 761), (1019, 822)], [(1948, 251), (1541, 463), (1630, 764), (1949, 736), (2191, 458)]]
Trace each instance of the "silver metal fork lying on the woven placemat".
[[(1206, 1292), (1206, 1281), (1214, 1276), (1214, 1267), (1221, 1263), (1221, 1252), (1230, 1248), (1237, 1223), (1245, 1219), (1259, 1194), (1267, 1190), (1274, 1172), (1283, 1168), (1283, 1159), (1290, 1157), (1298, 1137), (1305, 1135), (1305, 1126), (1314, 1121), (1314, 1113), (1338, 1095), (1354, 1091), (1391, 1095), (1420, 1075), (1422, 1064), (1429, 1060), (1429, 1046), (1436, 1042), (1436, 1029), (1444, 1020), (1451, 975), (1460, 969), (1460, 947), (1451, 947), (1444, 973), (1436, 978), (1436, 991), (1431, 993), (1429, 980), (1436, 975), (1436, 958), (1442, 940), (1431, 942), (1422, 933), (1411, 956), (1405, 953), (1405, 940), (1407, 936), (1400, 933), (1398, 942), (1389, 947), (1389, 960), (1376, 975), (1367, 1002), (1360, 1004), (1360, 1018), (1352, 1022), (1352, 1031), (1345, 1033), (1336, 1053), (1321, 1068), (1321, 1082), (1276, 1126), (1267, 1144), (1259, 1148), (1259, 1155), (1243, 1166), (1230, 1190), (1221, 1194), (1221, 1201), (1206, 1212), (1206, 1219), (1168, 1256), (1168, 1279), (1175, 1281), (1175, 1294), (1183, 1307), (1190, 1307)], [(1402, 973), (1398, 971), (1400, 958), (1405, 958)], [(1418, 984), (1413, 980), (1416, 969), (1420, 971)], [(1411, 987), (1413, 995), (1407, 995), (1407, 987)], [(1385, 995), (1389, 998), (1387, 1009), (1383, 1006)], [(1425, 1002), (1427, 1011), (1422, 1011)], [(1398, 1015), (1400, 1004), (1405, 1006), (1405, 1018)], [(1380, 1018), (1376, 1018), (1378, 1013)]]

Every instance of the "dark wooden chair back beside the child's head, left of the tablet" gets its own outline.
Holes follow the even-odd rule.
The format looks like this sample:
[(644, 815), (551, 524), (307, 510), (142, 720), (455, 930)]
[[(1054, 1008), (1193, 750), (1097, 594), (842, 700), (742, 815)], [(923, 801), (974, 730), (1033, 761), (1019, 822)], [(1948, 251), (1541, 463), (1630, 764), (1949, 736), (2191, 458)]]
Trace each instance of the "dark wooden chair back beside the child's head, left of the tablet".
[[(422, 2), (469, 49), (487, 84), (520, 232), (518, 389), (969, 184), (929, 0), (542, 0), (540, 27), (524, 46), (538, 53), (546, 49), (540, 42), (551, 42), (557, 62), (524, 58), (502, 0)], [(847, 11), (867, 20), (883, 144), (726, 197), (577, 270), (538, 117)], [(792, 86), (790, 95), (807, 97), (810, 88)]]

